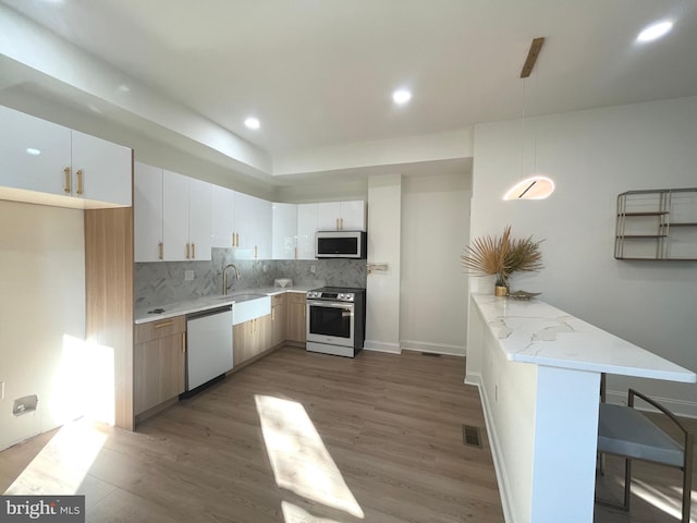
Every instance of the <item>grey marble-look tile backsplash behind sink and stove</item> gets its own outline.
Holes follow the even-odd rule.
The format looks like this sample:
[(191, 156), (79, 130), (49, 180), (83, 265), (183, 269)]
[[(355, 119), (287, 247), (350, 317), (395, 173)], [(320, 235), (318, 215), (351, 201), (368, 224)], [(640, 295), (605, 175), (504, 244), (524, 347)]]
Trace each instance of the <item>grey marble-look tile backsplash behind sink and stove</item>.
[[(229, 282), (234, 283), (229, 293), (272, 287), (276, 278), (291, 278), (294, 285), (366, 287), (365, 259), (247, 260), (234, 259), (231, 248), (213, 248), (210, 262), (135, 264), (135, 305), (149, 307), (222, 294), (222, 269), (228, 264), (234, 264), (242, 275), (230, 280), (229, 271)], [(193, 280), (185, 280), (186, 271), (193, 271)]]

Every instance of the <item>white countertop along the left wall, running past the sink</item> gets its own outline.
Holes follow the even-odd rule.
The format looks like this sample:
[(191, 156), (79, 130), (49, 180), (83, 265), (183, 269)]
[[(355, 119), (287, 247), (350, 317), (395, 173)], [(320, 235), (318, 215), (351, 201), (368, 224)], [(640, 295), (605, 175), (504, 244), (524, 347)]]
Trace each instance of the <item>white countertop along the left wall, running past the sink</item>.
[[(198, 313), (200, 311), (208, 311), (211, 308), (218, 308), (225, 305), (235, 303), (235, 295), (240, 294), (265, 294), (272, 296), (284, 292), (298, 292), (305, 294), (315, 285), (294, 285), (294, 287), (264, 287), (260, 289), (244, 289), (234, 291), (227, 296), (217, 294), (212, 296), (201, 296), (192, 300), (185, 300), (174, 303), (162, 303), (158, 305), (149, 305), (147, 307), (136, 307), (135, 309), (135, 324), (147, 324), (148, 321), (159, 321), (160, 319), (172, 318), (174, 316), (181, 316), (183, 314)], [(150, 311), (161, 308), (162, 313), (150, 313)]]

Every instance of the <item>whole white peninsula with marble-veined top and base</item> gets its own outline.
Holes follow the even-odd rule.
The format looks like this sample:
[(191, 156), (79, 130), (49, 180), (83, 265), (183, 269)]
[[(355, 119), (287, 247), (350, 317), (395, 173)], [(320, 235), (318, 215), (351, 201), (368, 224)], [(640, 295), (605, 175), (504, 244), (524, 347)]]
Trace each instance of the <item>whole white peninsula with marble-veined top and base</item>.
[(697, 376), (539, 300), (473, 294), (469, 311), (466, 382), (479, 387), (506, 521), (590, 523), (600, 375)]

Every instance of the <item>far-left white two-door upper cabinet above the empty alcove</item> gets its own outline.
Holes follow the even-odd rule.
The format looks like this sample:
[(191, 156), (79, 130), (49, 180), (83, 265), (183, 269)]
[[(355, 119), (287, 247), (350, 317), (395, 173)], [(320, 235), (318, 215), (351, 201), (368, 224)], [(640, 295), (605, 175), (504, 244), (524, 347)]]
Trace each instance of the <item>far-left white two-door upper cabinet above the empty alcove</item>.
[(0, 107), (0, 186), (36, 193), (11, 199), (82, 208), (131, 205), (127, 147)]

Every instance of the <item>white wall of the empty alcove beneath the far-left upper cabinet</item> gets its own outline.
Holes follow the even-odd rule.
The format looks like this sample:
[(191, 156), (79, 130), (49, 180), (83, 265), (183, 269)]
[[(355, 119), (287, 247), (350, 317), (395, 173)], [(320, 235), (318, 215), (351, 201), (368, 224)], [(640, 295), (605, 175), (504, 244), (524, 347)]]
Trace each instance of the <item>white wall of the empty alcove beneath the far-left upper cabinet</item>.
[[(82, 210), (0, 202), (0, 450), (80, 414), (62, 373), (63, 336), (85, 339), (83, 223)], [(29, 394), (37, 411), (13, 416)]]

